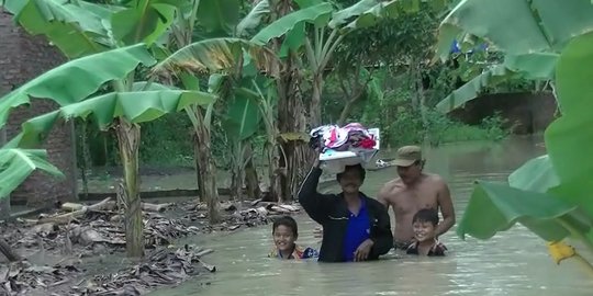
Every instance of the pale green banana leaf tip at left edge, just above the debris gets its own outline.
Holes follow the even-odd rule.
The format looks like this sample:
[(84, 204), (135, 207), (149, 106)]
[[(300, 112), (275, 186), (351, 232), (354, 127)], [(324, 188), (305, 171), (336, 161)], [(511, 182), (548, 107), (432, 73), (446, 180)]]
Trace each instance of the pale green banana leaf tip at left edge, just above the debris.
[(47, 161), (45, 150), (0, 149), (0, 198), (8, 197), (34, 170), (64, 178), (64, 174)]

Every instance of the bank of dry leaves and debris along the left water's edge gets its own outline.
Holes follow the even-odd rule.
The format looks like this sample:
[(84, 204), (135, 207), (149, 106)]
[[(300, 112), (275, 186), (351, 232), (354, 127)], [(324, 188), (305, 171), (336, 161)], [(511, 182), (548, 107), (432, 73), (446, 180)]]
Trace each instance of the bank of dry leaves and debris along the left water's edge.
[[(152, 254), (143, 263), (101, 275), (89, 273), (81, 262), (85, 258), (125, 250), (123, 210), (111, 198), (91, 205), (64, 203), (55, 213), (42, 214), (36, 219), (0, 221), (5, 244), (25, 259), (0, 265), (0, 296), (143, 295), (158, 286), (178, 284), (200, 271), (216, 270), (201, 260), (212, 250), (163, 248), (170, 247), (176, 239), (265, 225), (277, 216), (301, 209), (299, 205), (262, 201), (224, 202), (223, 223), (208, 226), (203, 203), (143, 203), (142, 208), (145, 247), (153, 250)], [(65, 259), (48, 263), (48, 254)]]

